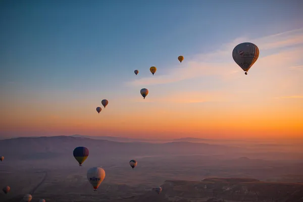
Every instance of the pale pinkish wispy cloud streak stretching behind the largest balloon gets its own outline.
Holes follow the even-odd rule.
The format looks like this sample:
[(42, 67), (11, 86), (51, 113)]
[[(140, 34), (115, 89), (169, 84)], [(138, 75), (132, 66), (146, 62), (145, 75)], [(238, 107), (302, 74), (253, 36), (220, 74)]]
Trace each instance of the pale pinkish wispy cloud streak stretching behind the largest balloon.
[[(251, 41), (252, 43), (258, 44), (261, 52), (262, 50), (273, 48), (302, 45), (303, 28), (251, 40), (246, 37), (236, 38), (230, 43), (223, 44), (217, 51), (191, 57), (192, 59), (190, 61), (184, 61), (182, 63), (182, 68), (180, 68), (180, 66), (174, 66), (168, 69), (164, 75), (140, 78), (128, 82), (127, 85), (165, 84), (210, 75), (217, 75), (221, 79), (231, 78), (231, 75), (237, 75), (236, 73), (239, 71), (239, 67), (234, 63), (231, 57), (231, 51), (235, 45), (244, 41)], [(302, 47), (299, 47), (280, 51), (277, 54), (271, 54), (265, 57), (260, 55), (259, 60), (255, 64), (255, 68), (261, 65), (265, 65), (266, 67), (276, 67), (279, 65), (288, 68), (289, 65), (294, 65), (294, 61), (299, 62), (301, 52)]]

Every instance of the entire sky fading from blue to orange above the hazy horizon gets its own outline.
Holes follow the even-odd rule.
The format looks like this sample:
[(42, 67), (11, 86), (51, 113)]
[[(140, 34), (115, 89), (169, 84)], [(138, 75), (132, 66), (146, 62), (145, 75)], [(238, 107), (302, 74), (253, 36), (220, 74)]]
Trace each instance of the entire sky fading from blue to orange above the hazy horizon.
[[(1, 1), (0, 136), (303, 136), (302, 8)], [(260, 48), (248, 75), (231, 57), (241, 42)], [(102, 99), (109, 105), (98, 115)]]

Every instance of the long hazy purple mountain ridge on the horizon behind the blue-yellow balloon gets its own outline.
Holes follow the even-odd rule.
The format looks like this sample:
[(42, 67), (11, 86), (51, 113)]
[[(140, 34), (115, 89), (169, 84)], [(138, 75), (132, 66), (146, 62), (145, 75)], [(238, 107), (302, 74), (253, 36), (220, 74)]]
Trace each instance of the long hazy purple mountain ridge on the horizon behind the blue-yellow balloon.
[[(191, 142), (119, 142), (104, 139), (91, 139), (75, 136), (19, 137), (0, 140), (0, 154), (19, 159), (52, 158), (70, 156), (77, 146), (86, 146), (90, 156), (155, 156), (155, 155), (191, 155), (191, 154), (225, 154), (238, 148)], [(50, 155), (51, 154), (51, 155)], [(105, 156), (105, 155), (103, 155)], [(6, 158), (7, 159), (7, 158)]]

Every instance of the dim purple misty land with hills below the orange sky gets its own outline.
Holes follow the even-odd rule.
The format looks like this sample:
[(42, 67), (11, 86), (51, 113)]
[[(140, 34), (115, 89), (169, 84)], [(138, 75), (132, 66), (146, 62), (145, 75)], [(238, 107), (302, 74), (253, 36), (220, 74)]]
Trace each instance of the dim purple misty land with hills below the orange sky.
[[(0, 201), (20, 201), (26, 193), (32, 194), (32, 201), (303, 201), (299, 147), (271, 145), (266, 151), (264, 145), (190, 142), (143, 146), (127, 142), (116, 147), (111, 141), (69, 138), (1, 140), (0, 154), (6, 159), (0, 163), (0, 186), (9, 185), (11, 191), (2, 192)], [(90, 154), (79, 167), (72, 148), (82, 143)], [(138, 161), (134, 170), (130, 159)], [(93, 166), (106, 171), (96, 192), (86, 179)], [(210, 179), (214, 177), (233, 179)], [(163, 187), (159, 195), (152, 190), (158, 185)]]

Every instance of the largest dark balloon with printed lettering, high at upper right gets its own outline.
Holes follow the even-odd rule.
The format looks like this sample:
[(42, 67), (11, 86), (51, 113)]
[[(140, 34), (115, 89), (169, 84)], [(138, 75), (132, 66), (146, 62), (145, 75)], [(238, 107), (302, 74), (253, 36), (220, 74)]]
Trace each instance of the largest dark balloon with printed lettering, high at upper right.
[(259, 58), (259, 48), (254, 43), (240, 43), (234, 47), (232, 58), (247, 75), (249, 68), (254, 65)]

